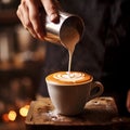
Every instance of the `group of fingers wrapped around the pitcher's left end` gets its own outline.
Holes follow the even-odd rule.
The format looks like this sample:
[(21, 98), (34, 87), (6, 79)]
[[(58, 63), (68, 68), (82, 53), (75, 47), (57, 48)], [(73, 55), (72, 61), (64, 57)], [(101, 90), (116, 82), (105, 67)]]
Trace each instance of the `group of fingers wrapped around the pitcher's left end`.
[(39, 2), (36, 0), (22, 0), (16, 14), (23, 26), (37, 39), (44, 39), (44, 28), (39, 15)]

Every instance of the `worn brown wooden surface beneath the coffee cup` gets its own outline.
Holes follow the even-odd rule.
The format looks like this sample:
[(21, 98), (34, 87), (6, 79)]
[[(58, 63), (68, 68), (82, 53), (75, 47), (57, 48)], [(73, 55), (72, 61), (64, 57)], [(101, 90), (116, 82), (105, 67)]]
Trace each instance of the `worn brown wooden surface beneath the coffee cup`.
[(25, 123), (27, 130), (130, 130), (130, 119), (118, 117), (114, 99), (105, 96), (91, 100), (73, 117), (56, 114), (49, 98), (32, 101)]

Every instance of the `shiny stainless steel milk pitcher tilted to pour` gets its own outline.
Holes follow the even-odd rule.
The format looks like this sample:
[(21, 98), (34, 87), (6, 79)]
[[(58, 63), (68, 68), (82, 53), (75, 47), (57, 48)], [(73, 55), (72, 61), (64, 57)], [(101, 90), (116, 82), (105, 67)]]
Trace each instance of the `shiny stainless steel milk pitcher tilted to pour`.
[[(81, 17), (66, 12), (60, 12), (60, 22), (57, 24), (50, 22), (46, 17), (46, 40), (62, 44), (78, 42), (82, 36), (84, 24)], [(79, 36), (79, 37), (76, 37)]]

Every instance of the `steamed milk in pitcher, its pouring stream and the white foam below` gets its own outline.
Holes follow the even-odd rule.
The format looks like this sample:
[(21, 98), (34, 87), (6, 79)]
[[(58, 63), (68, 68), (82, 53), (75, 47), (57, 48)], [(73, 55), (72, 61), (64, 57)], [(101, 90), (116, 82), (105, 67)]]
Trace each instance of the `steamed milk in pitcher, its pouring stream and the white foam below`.
[(80, 82), (84, 77), (86, 77), (84, 80), (88, 80), (90, 77), (87, 78), (84, 74), (70, 72), (72, 58), (75, 51), (75, 47), (80, 40), (80, 35), (78, 30), (74, 27), (68, 26), (64, 28), (64, 34), (62, 34), (61, 39), (62, 39), (62, 44), (68, 50), (68, 55), (69, 55), (68, 72), (60, 73), (58, 75), (56, 74), (54, 75), (54, 78), (65, 82), (70, 82), (70, 81)]

